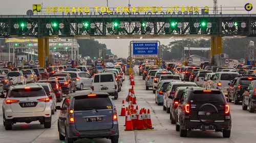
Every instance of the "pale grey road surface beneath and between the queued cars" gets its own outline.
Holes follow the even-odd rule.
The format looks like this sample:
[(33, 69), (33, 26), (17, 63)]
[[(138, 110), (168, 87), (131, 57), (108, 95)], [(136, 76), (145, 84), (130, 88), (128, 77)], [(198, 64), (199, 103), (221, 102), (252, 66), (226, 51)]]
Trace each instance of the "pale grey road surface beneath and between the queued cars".
[[(138, 73), (138, 66), (135, 66), (135, 72)], [(118, 116), (119, 122), (119, 142), (123, 143), (149, 143), (149, 142), (255, 142), (255, 129), (256, 129), (256, 115), (250, 113), (248, 110), (242, 110), (241, 103), (239, 105), (230, 104), (230, 112), (232, 118), (231, 136), (229, 138), (223, 138), (221, 132), (215, 131), (190, 131), (187, 137), (180, 137), (179, 132), (175, 130), (175, 125), (170, 123), (169, 114), (163, 110), (162, 106), (158, 106), (155, 103), (155, 94), (150, 90), (145, 90), (145, 80), (142, 80), (142, 76), (138, 74), (134, 75), (135, 85), (134, 91), (137, 98), (137, 104), (139, 109), (146, 108), (150, 109), (151, 120), (154, 129), (151, 130), (133, 130), (124, 131), (125, 117)], [(123, 82), (122, 91), (119, 93), (119, 98), (114, 100), (117, 107), (118, 115), (121, 112), (122, 100), (125, 100), (129, 93), (129, 89), (132, 88), (129, 81), (129, 76), (125, 77)], [(86, 92), (90, 89), (84, 89)], [(4, 99), (0, 99), (0, 105)], [(62, 103), (57, 103), (61, 105)], [(135, 105), (135, 106), (136, 106)], [(125, 106), (128, 103), (125, 102)], [(3, 125), (3, 112), (0, 111), (0, 142), (63, 142), (58, 139), (57, 131), (57, 118), (59, 111), (55, 112), (52, 116), (52, 127), (45, 129), (44, 125), (40, 125), (38, 121), (26, 123), (17, 123), (13, 125), (12, 130), (6, 131)], [(111, 142), (109, 139), (96, 138), (96, 139), (79, 139), (75, 142)]]

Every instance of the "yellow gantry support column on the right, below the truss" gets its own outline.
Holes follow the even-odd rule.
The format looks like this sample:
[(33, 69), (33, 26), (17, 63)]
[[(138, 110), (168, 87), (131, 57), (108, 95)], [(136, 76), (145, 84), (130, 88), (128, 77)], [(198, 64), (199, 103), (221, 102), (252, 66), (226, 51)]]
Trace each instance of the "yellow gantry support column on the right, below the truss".
[(214, 61), (214, 55), (222, 53), (222, 37), (221, 36), (211, 36), (210, 37), (210, 62), (216, 64)]

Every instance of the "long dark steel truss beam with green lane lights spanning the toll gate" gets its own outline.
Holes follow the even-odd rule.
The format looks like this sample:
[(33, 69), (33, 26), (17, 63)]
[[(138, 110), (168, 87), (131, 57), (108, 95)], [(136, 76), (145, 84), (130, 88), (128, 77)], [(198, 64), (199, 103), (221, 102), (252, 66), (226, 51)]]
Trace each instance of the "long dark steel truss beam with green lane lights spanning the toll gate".
[[(79, 27), (78, 23), (89, 25)], [(182, 27), (177, 27), (178, 22)], [(195, 27), (194, 23), (200, 23)], [(201, 23), (211, 23), (211, 27)], [(230, 27), (229, 23), (237, 22)], [(246, 27), (241, 23), (245, 22)], [(26, 26), (14, 28), (14, 24), (28, 23)], [(63, 23), (63, 28), (47, 28), (47, 23)], [(95, 23), (93, 28), (90, 24)], [(117, 23), (117, 26), (114, 26)], [(120, 27), (120, 23), (123, 27)], [(141, 23), (141, 25), (138, 25)], [(145, 23), (145, 26), (142, 26)], [(165, 23), (170, 26), (166, 27)], [(175, 25), (171, 25), (175, 23)], [(112, 26), (110, 26), (112, 25)], [(182, 36), (182, 35), (214, 35), (214, 36), (255, 36), (256, 14), (232, 15), (0, 15), (0, 38), (11, 37), (92, 37), (119, 35)]]

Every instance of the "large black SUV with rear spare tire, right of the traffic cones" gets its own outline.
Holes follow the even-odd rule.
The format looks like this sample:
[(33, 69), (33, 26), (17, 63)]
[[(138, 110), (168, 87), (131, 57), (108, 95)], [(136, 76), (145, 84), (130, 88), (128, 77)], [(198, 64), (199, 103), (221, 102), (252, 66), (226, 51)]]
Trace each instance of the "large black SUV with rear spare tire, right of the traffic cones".
[(223, 137), (230, 137), (231, 115), (229, 105), (222, 91), (218, 89), (187, 88), (183, 97), (175, 98), (180, 102), (176, 115), (176, 131), (187, 136), (191, 130), (222, 131)]

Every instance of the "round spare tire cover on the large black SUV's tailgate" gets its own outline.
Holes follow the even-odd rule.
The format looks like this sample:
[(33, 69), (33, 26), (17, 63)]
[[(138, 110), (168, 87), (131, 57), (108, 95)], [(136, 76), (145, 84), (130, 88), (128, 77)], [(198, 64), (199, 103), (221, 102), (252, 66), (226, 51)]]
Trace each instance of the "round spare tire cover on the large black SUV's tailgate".
[(198, 109), (198, 119), (205, 124), (214, 123), (217, 118), (218, 109), (210, 103), (203, 104)]

